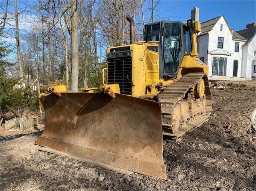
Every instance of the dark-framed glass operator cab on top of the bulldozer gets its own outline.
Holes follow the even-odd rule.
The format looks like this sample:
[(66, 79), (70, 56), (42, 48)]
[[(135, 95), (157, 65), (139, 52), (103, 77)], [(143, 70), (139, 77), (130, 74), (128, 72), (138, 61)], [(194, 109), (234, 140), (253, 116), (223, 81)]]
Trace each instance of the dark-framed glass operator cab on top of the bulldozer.
[(177, 21), (160, 21), (146, 24), (143, 40), (159, 41), (160, 78), (176, 78), (184, 55), (192, 51), (191, 28)]

